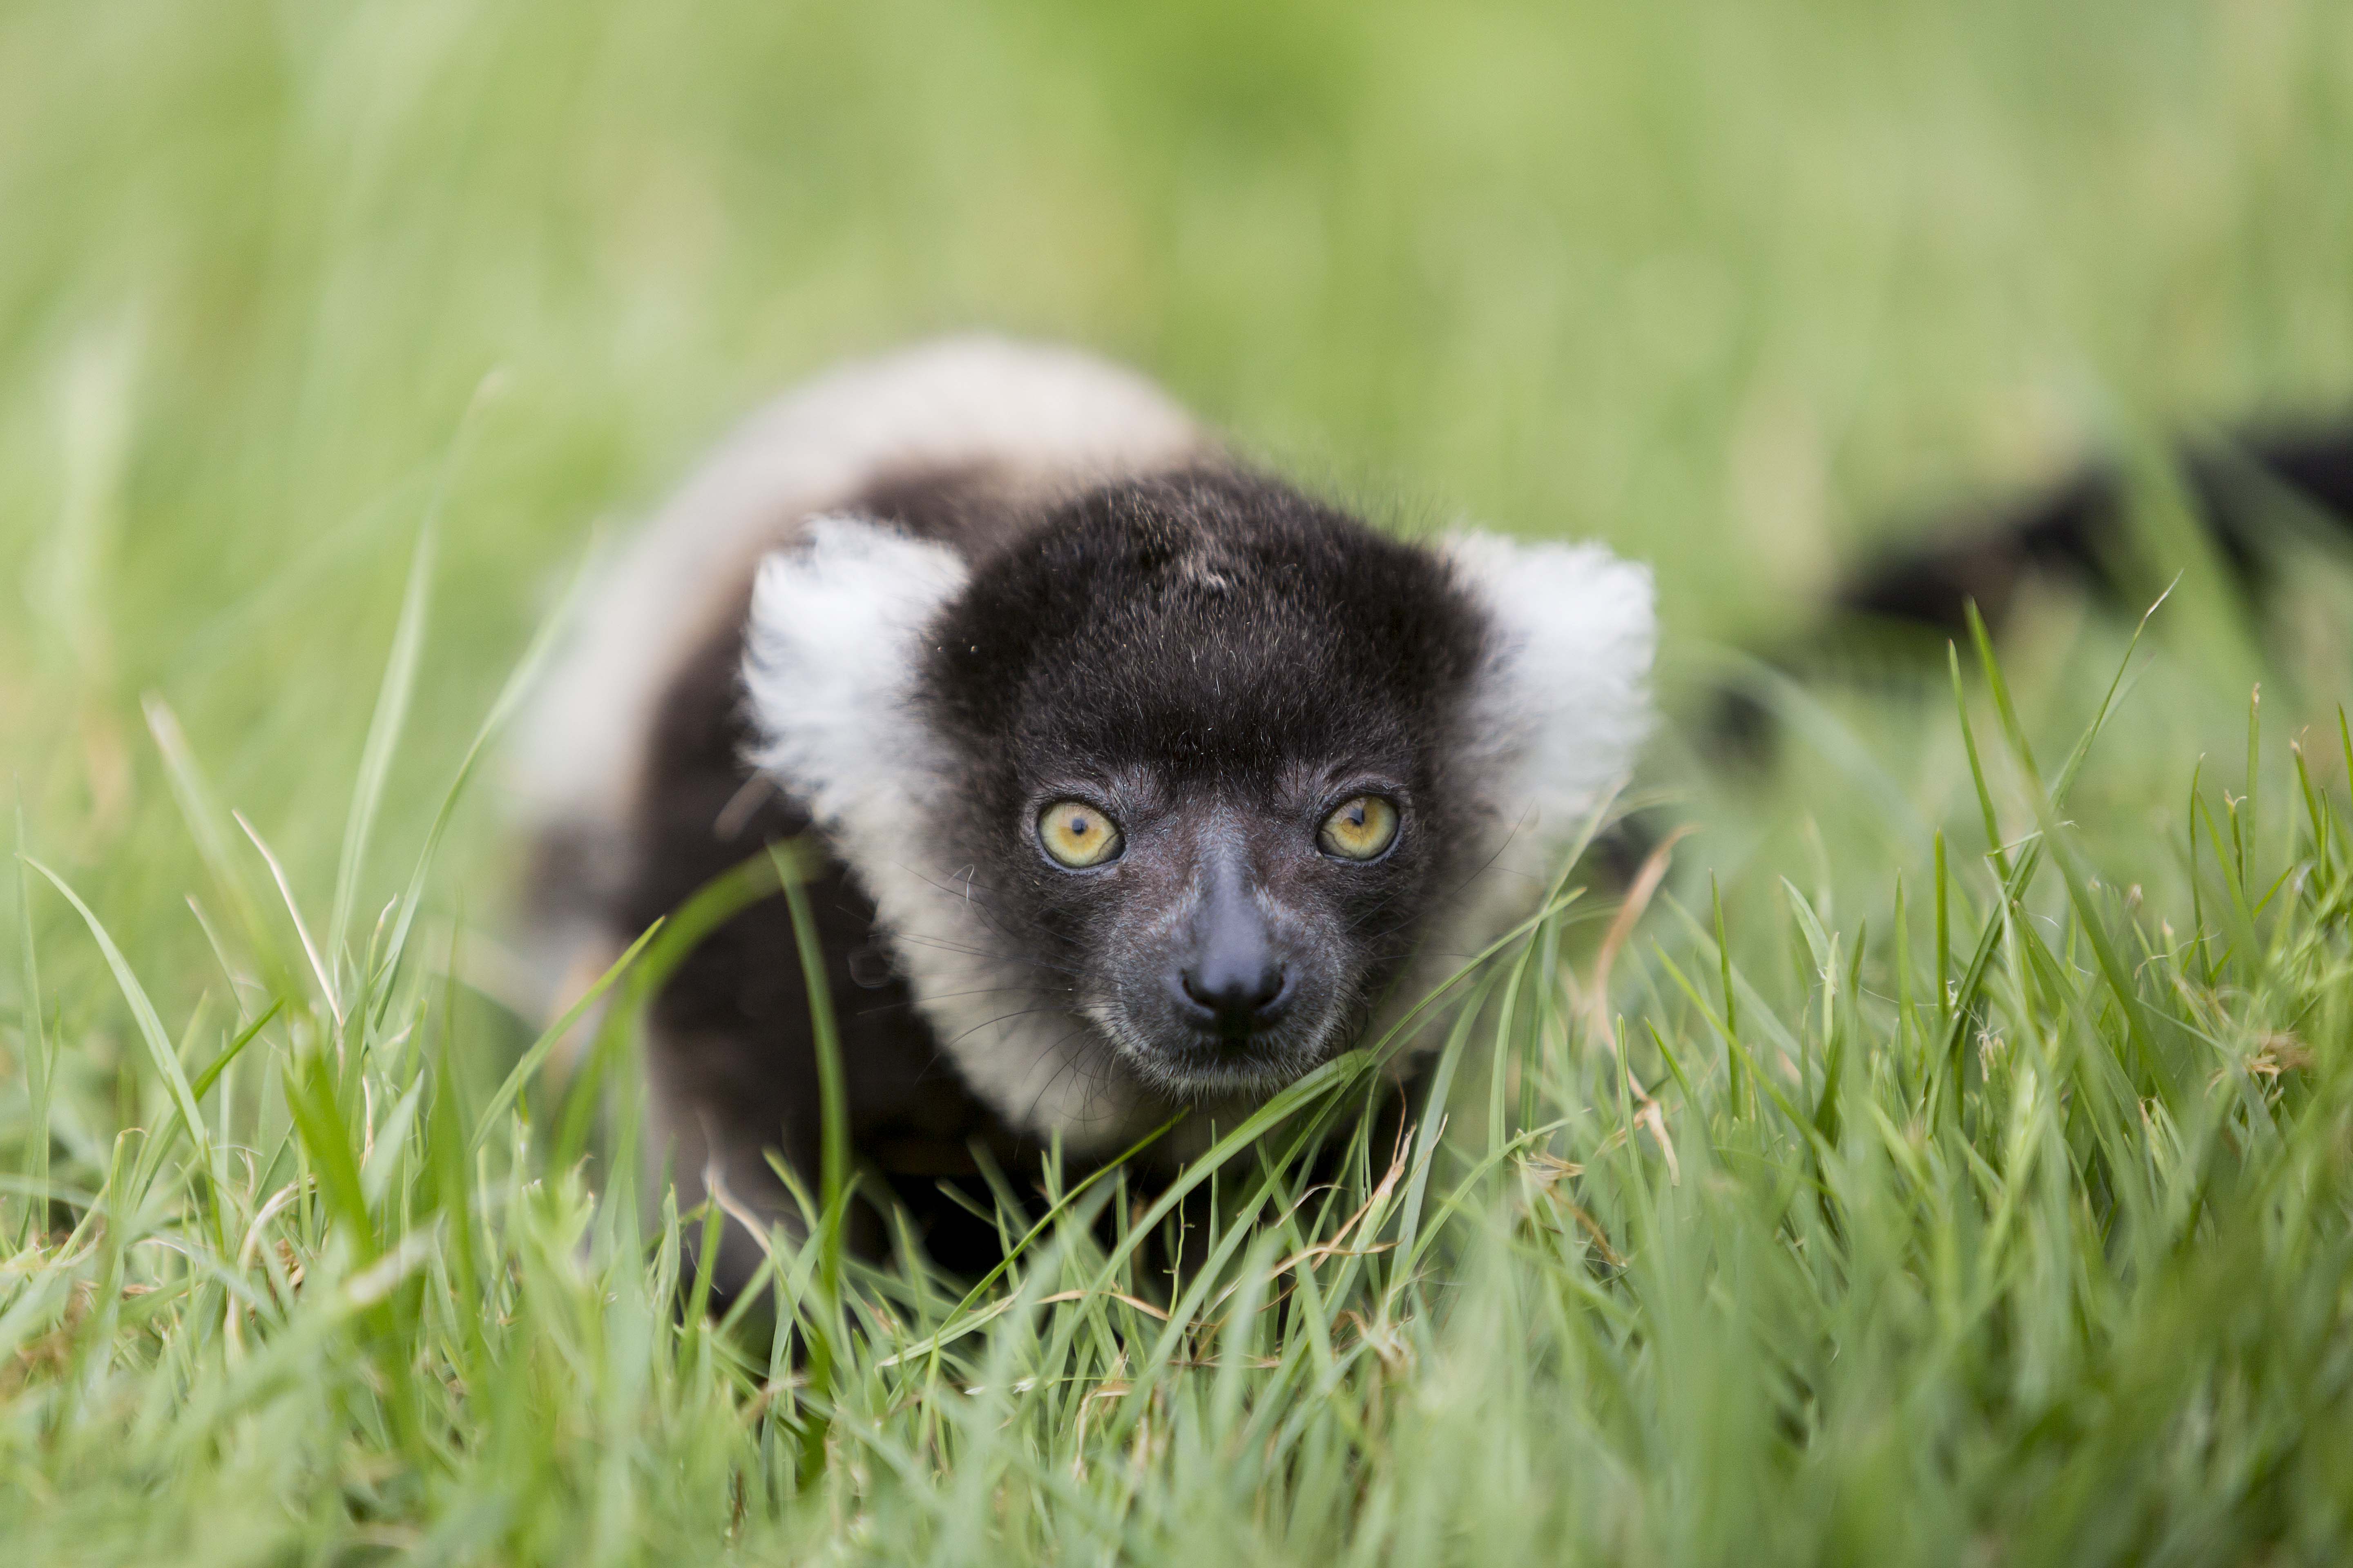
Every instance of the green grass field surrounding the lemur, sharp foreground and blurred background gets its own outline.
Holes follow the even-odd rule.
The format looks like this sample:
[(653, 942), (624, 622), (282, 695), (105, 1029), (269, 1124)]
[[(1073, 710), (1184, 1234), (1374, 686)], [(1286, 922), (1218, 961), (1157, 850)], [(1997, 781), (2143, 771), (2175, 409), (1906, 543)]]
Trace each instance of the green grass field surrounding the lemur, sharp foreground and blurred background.
[(1680, 712), (1941, 501), (2344, 409), (2348, 169), (2327, 0), (0, 5), (0, 1561), (2339, 1559), (2353, 578), (2249, 614), (2162, 463), (2134, 649), (1671, 724), (1442, 1135), (1304, 1192), (1318, 1074), (1174, 1284), (1108, 1182), (786, 1253), (800, 1373), (532, 1070), (459, 783), (600, 524), (965, 324), (1654, 559)]

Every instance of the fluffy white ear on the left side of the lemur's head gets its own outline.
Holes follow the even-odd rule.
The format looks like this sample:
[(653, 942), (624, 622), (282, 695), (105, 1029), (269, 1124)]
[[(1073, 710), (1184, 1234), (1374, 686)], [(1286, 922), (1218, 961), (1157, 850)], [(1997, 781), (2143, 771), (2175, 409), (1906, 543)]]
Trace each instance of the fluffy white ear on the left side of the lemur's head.
[(913, 708), (922, 628), (965, 585), (948, 548), (864, 517), (816, 517), (760, 562), (744, 632), (751, 762), (847, 849), (904, 856), (939, 776)]

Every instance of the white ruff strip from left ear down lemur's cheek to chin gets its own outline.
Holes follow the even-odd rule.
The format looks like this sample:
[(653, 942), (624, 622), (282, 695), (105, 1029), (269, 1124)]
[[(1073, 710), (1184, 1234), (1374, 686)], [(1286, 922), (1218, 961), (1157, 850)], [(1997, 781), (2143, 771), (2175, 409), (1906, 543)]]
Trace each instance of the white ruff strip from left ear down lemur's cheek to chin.
[(965, 1081), (1012, 1124), (1078, 1154), (1134, 1138), (1141, 1095), (1096, 1025), (1031, 987), (1019, 931), (993, 929), (969, 865), (939, 863), (955, 764), (913, 705), (925, 625), (965, 585), (948, 548), (819, 517), (760, 564), (744, 686), (753, 762), (807, 804), (875, 900), (899, 969)]

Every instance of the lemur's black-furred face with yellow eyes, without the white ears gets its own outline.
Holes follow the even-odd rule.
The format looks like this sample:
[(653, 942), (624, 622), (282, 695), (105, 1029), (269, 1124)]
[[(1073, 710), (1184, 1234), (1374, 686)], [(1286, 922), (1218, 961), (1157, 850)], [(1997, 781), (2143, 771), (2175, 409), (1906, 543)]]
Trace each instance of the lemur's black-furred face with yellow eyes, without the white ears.
[(1459, 858), (1438, 715), (1478, 651), (1428, 557), (1289, 494), (1071, 508), (979, 569), (925, 670), (995, 938), (1162, 1091), (1299, 1077)]

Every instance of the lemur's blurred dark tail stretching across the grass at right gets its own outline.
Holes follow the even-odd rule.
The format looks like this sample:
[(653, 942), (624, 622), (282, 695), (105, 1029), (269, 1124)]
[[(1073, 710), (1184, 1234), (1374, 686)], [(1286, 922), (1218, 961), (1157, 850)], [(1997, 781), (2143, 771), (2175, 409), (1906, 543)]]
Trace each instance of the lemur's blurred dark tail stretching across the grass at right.
[[(2249, 604), (2275, 585), (2280, 543), (2327, 541), (2353, 555), (2353, 418), (2257, 430), (2228, 442), (2184, 444), (2179, 496)], [(1967, 637), (1967, 604), (2000, 630), (2019, 590), (2033, 581), (2071, 585), (2115, 609), (2148, 581), (2134, 552), (2120, 463), (2089, 463), (2064, 484), (1960, 508), (1913, 543), (1864, 562), (1831, 597), (1817, 625), (1765, 654), (1791, 675), (1861, 675), (1941, 658), (1948, 637)], [(1704, 719), (1727, 757), (1760, 759), (1774, 724), (1758, 691), (1727, 679)]]

